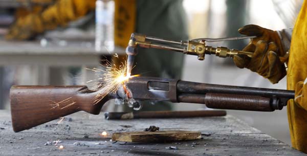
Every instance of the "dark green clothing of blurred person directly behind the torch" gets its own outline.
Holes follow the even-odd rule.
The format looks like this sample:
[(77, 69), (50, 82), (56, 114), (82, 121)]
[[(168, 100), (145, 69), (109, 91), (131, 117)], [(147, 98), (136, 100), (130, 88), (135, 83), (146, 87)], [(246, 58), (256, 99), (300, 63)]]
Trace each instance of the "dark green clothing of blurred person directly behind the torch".
[[(136, 32), (173, 40), (187, 40), (186, 15), (182, 1), (137, 1)], [(182, 74), (184, 54), (159, 49), (139, 48), (136, 74), (177, 78)]]

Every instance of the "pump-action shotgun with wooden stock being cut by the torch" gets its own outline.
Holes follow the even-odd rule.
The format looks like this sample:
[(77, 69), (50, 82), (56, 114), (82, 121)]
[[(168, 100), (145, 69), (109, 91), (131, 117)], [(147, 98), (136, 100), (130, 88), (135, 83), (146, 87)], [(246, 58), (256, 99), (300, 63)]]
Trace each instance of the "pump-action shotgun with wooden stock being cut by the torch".
[[(115, 94), (98, 103), (99, 91), (86, 86), (12, 86), (12, 125), (15, 132), (83, 110), (98, 115), (103, 104), (114, 98), (136, 101), (171, 101), (206, 104), (209, 108), (272, 112), (282, 109), (294, 91), (188, 82), (155, 77), (133, 77)], [(125, 88), (125, 90), (124, 90)]]

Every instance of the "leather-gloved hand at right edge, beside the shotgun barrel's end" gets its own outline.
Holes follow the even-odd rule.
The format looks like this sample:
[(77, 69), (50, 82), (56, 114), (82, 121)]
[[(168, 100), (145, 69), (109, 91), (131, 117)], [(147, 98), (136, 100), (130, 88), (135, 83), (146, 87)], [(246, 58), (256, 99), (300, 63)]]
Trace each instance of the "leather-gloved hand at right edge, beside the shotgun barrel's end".
[(307, 78), (305, 81), (299, 81), (295, 85), (295, 103), (300, 107), (307, 108)]

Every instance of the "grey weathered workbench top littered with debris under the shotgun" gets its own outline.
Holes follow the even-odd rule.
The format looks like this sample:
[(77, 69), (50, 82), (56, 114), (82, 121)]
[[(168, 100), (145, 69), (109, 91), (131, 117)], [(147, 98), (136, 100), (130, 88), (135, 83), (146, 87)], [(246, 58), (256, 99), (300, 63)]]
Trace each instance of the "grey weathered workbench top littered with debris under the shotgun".
[[(56, 122), (15, 133), (10, 112), (1, 110), (0, 155), (305, 155), (233, 116), (105, 120), (102, 113), (89, 116), (79, 112)], [(125, 144), (110, 140), (113, 132), (143, 130), (149, 125), (160, 130), (199, 130), (202, 138)], [(102, 131), (108, 135), (101, 136)], [(178, 149), (166, 149), (169, 146)]]

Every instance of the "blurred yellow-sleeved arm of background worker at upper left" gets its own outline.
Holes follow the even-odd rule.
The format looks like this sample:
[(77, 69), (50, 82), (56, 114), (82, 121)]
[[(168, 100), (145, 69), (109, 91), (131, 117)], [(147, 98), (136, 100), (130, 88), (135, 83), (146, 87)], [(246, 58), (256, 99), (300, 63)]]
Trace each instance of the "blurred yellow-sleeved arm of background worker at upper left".
[(10, 27), (6, 39), (31, 39), (46, 30), (65, 26), (70, 21), (86, 15), (95, 9), (96, 0), (59, 0), (39, 13), (30, 13), (17, 18)]

